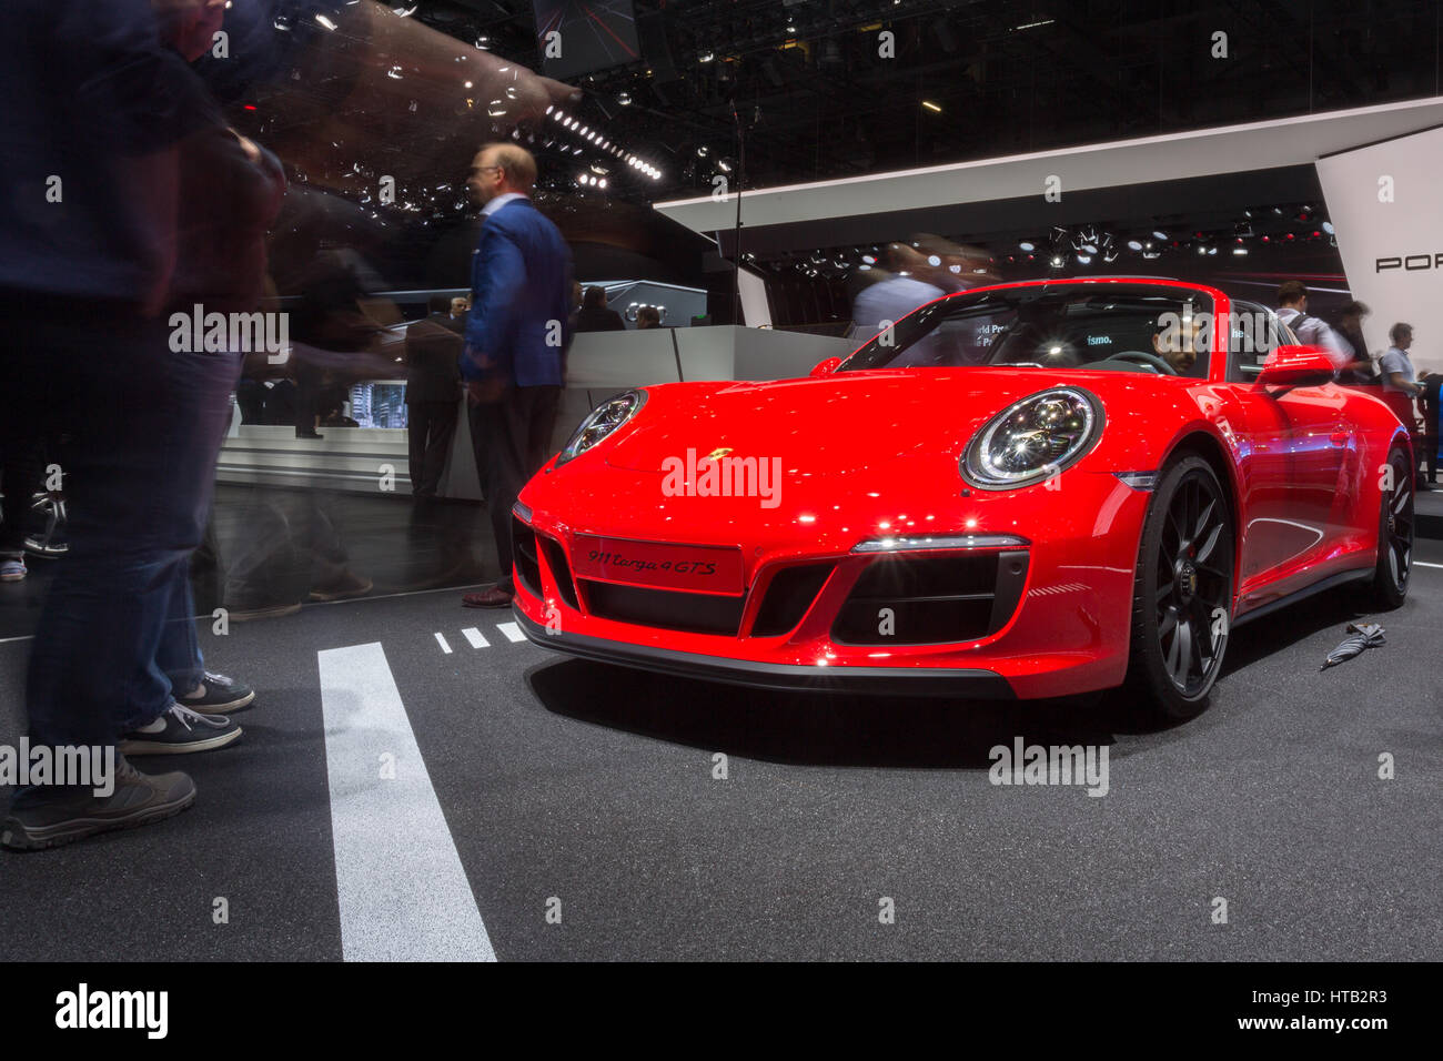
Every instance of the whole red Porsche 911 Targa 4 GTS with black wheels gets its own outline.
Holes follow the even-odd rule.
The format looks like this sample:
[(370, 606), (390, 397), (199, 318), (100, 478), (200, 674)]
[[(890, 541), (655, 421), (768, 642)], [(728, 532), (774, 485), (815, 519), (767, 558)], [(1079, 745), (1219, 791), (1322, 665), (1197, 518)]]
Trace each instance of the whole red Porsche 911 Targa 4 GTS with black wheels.
[(1398, 606), (1408, 433), (1267, 309), (1156, 279), (938, 299), (810, 378), (596, 409), (514, 510), (537, 644), (786, 689), (1202, 710), (1238, 622)]

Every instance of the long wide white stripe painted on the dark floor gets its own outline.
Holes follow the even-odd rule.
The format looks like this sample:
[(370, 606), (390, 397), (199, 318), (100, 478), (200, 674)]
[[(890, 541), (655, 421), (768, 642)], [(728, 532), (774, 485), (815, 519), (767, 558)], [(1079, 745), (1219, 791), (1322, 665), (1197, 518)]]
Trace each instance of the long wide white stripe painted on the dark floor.
[(380, 642), (316, 652), (346, 961), (495, 961)]

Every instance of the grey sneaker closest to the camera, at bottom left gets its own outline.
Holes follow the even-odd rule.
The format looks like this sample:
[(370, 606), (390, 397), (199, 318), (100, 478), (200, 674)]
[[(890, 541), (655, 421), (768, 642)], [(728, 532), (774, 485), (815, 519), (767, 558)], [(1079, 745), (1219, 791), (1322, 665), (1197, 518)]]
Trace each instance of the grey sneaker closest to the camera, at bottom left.
[(115, 758), (115, 791), (105, 797), (82, 790), (22, 788), (0, 821), (0, 844), (16, 850), (59, 847), (113, 829), (136, 829), (169, 818), (195, 803), (195, 782), (185, 774), (141, 774)]

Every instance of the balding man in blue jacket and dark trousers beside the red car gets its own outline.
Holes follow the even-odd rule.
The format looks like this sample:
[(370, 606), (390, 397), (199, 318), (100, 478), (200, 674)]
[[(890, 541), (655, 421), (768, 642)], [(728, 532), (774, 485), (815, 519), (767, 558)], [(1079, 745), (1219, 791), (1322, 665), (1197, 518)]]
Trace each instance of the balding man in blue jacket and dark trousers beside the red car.
[(571, 344), (571, 251), (531, 204), (535, 180), (535, 159), (512, 143), (482, 147), (466, 179), (472, 198), (483, 204), (483, 224), (472, 258), (460, 372), (478, 411), (478, 471), (501, 562), (495, 586), (462, 598), (468, 608), (511, 603), (511, 507), (545, 463)]

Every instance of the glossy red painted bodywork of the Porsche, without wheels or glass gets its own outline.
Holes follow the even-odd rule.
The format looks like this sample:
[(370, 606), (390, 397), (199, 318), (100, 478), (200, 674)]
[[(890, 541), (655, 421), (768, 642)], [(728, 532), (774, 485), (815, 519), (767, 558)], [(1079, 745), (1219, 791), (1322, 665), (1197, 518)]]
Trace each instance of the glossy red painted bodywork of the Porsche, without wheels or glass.
[[(760, 684), (781, 673), (789, 676), (788, 684), (807, 684), (795, 678), (811, 673), (825, 687), (848, 671), (895, 671), (896, 690), (905, 691), (906, 678), (932, 671), (997, 676), (1004, 686), (994, 689), (1025, 699), (1107, 689), (1127, 671), (1134, 570), (1152, 498), (1118, 475), (1156, 472), (1182, 446), (1219, 456), (1225, 471), (1237, 530), (1234, 621), (1332, 576), (1371, 572), (1378, 556), (1380, 468), (1395, 440), (1407, 442), (1397, 417), (1381, 400), (1336, 384), (1270, 393), (1255, 383), (1227, 383), (1228, 297), (1195, 284), (1159, 283), (1192, 287), (1214, 300), (1219, 323), (1206, 380), (968, 367), (646, 388), (646, 403), (631, 422), (561, 466), (553, 459), (522, 489), (519, 533), (540, 536), (530, 580), (522, 577), (518, 549), (514, 608), (522, 628), (563, 651), (644, 667), (665, 658), (662, 670), (685, 670), (671, 665), (678, 660), (707, 660), (709, 677)], [(1091, 452), (1046, 484), (968, 488), (958, 460), (974, 433), (1012, 401), (1051, 385), (1082, 388), (1101, 403), (1105, 426)], [(664, 462), (722, 447), (734, 459), (776, 460), (775, 504), (758, 495), (687, 497), (662, 489)], [(1020, 549), (925, 553), (1006, 554), (1003, 563), (1016, 557), (1025, 575), (1017, 576), (1017, 602), (1000, 628), (944, 644), (857, 644), (837, 637), (838, 616), (870, 564), (921, 556), (859, 554), (854, 547), (924, 533), (1025, 540)], [(609, 551), (593, 536), (620, 544)], [(730, 573), (717, 575), (722, 582), (711, 593), (727, 598), (720, 606), (740, 608), (734, 632), (606, 615), (600, 598), (618, 592), (606, 585), (619, 585), (622, 593), (628, 585), (667, 589), (657, 573), (628, 573), (626, 564), (644, 566), (648, 554), (646, 546), (628, 543), (726, 550), (696, 550), (693, 559), (724, 556), (719, 572), (740, 569), (740, 586)], [(773, 577), (811, 564), (834, 567), (797, 624), (758, 634)], [(683, 566), (687, 572), (680, 582), (668, 576), (670, 586), (697, 592), (694, 599), (704, 603), (704, 579), (690, 562)], [(996, 625), (996, 614), (993, 619)]]

